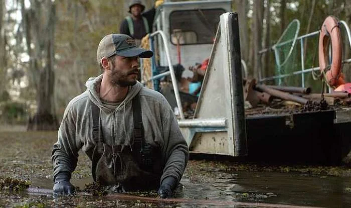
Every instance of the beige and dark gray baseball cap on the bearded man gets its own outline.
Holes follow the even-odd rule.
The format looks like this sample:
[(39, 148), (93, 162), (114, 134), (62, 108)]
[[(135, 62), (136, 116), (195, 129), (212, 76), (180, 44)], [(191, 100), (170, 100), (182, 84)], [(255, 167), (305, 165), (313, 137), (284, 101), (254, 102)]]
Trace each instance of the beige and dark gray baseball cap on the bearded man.
[(96, 60), (100, 64), (103, 57), (109, 58), (113, 55), (140, 58), (151, 58), (152, 51), (138, 48), (135, 40), (125, 34), (109, 34), (102, 38), (97, 47)]

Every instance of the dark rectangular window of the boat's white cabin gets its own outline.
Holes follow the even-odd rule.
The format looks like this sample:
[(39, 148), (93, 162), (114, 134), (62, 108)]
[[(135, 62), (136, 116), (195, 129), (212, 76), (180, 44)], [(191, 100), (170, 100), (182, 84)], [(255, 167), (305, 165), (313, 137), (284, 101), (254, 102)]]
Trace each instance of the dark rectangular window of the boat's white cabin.
[(223, 9), (174, 11), (169, 16), (170, 40), (177, 45), (212, 44)]

